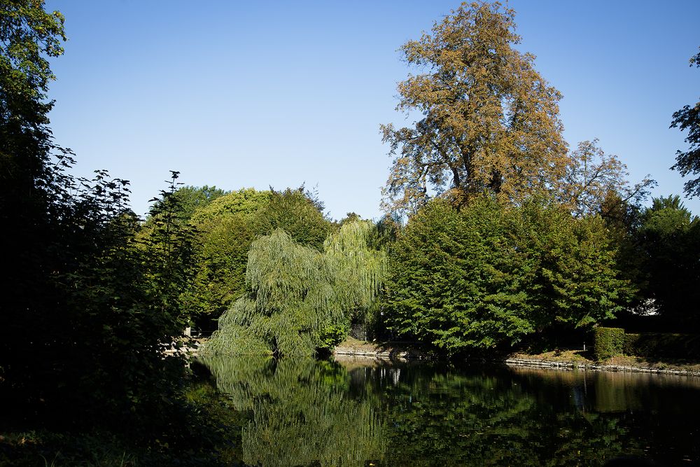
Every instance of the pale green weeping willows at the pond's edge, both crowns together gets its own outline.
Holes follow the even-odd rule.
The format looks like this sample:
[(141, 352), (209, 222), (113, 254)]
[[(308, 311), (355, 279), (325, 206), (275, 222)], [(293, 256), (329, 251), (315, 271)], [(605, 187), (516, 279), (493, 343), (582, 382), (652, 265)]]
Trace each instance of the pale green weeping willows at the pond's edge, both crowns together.
[(329, 335), (371, 309), (386, 269), (372, 249), (377, 228), (352, 221), (331, 234), (323, 253), (284, 230), (251, 245), (247, 291), (219, 319), (204, 354), (315, 354)]

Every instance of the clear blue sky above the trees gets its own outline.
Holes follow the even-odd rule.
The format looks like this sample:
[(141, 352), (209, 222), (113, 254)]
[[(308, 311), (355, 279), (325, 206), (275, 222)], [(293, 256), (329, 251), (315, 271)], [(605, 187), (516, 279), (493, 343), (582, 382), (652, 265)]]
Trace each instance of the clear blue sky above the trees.
[[(510, 1), (521, 50), (563, 94), (570, 146), (600, 139), (631, 181), (682, 192), (668, 168), (685, 134), (671, 114), (700, 99), (700, 1)], [(169, 170), (235, 190), (318, 186), (334, 218), (379, 216), (391, 160), (379, 124), (407, 68), (397, 49), (456, 1), (49, 0), (66, 16), (51, 127), (76, 173), (132, 182), (137, 214)], [(698, 200), (685, 200), (700, 214)]]

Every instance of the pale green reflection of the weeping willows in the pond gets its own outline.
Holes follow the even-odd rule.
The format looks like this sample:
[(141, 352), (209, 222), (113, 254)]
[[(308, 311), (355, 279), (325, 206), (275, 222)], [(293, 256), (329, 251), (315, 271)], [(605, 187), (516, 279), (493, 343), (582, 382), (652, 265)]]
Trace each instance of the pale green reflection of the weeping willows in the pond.
[(386, 450), (377, 412), (349, 397), (349, 375), (337, 363), (310, 358), (205, 360), (217, 388), (237, 410), (250, 466), (365, 466)]

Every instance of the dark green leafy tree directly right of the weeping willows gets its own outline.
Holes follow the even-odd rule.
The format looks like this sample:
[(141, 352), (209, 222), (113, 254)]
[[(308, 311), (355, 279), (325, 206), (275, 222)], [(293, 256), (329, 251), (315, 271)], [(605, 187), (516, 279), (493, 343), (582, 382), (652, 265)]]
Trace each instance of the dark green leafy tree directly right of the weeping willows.
[(505, 228), (491, 199), (475, 199), (462, 211), (433, 200), (412, 216), (389, 256), (388, 327), (451, 354), (533, 333)]

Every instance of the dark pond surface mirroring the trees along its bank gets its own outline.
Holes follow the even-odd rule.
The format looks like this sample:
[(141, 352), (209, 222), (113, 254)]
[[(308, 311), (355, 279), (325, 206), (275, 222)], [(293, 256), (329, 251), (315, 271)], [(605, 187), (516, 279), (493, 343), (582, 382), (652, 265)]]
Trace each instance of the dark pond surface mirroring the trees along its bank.
[(246, 414), (248, 465), (596, 466), (622, 455), (700, 465), (700, 378), (364, 359), (204, 363)]

